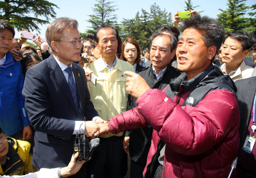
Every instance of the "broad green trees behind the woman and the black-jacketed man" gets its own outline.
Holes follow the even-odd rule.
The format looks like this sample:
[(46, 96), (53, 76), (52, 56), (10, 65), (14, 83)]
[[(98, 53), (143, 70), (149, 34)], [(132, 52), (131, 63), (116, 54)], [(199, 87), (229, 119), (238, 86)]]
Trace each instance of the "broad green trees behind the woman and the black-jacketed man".
[(144, 51), (149, 48), (150, 36), (163, 25), (173, 25), (172, 14), (162, 10), (156, 3), (150, 6), (150, 12), (141, 9), (141, 15), (137, 12), (132, 19), (123, 19), (122, 39), (127, 36), (134, 38)]

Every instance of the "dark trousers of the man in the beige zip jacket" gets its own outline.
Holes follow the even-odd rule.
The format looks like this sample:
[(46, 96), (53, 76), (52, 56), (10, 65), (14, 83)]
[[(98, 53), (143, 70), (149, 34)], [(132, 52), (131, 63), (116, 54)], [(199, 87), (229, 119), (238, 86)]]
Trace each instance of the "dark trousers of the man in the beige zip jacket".
[(100, 145), (88, 161), (91, 178), (122, 178), (122, 163), (125, 151), (123, 149), (123, 136), (100, 138)]

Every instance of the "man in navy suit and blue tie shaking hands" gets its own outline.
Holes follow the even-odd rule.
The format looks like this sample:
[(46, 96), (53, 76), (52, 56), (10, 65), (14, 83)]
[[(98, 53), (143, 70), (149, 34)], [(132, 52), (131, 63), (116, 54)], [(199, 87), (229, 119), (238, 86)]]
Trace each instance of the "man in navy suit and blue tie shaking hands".
[[(36, 130), (33, 165), (39, 169), (67, 166), (80, 128), (92, 137), (100, 130), (95, 121), (85, 122), (99, 115), (90, 101), (84, 70), (73, 63), (80, 59), (82, 46), (77, 27), (77, 21), (67, 17), (51, 23), (46, 41), (52, 55), (26, 73), (22, 94)], [(84, 177), (84, 171), (75, 176)]]

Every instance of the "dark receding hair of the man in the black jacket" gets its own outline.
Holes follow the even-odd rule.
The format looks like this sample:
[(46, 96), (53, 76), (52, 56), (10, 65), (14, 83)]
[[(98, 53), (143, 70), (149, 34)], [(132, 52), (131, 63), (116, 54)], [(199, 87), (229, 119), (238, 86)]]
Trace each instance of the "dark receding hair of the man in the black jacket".
[(153, 40), (157, 36), (167, 35), (171, 41), (171, 52), (174, 51), (178, 44), (179, 30), (174, 26), (162, 26), (149, 38), (149, 45), (151, 47)]

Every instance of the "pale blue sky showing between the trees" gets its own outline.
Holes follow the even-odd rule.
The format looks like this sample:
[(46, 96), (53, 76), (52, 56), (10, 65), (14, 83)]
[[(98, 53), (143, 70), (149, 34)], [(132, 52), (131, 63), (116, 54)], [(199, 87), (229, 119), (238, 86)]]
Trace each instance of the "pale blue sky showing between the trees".
[[(70, 17), (78, 21), (79, 27), (78, 30), (81, 33), (84, 33), (86, 29), (89, 29), (87, 26), (91, 24), (85, 20), (89, 19), (88, 15), (93, 13), (92, 8), (94, 4), (97, 3), (96, 0), (48, 0), (56, 4), (59, 8), (55, 8), (56, 17)], [(176, 11), (184, 11), (185, 0), (110, 0), (114, 1), (112, 5), (116, 5), (116, 10), (113, 14), (118, 16), (118, 23), (123, 20), (123, 18), (134, 18), (136, 13), (143, 8), (147, 12), (150, 11), (150, 6), (156, 2), (156, 5), (159, 5), (161, 9), (164, 9), (169, 13), (172, 13), (172, 17)], [(187, 1), (187, 0), (186, 0)], [(217, 15), (220, 13), (218, 10), (227, 8), (227, 0), (192, 0), (193, 6), (201, 6), (195, 8), (197, 11), (204, 12), (201, 13), (203, 16), (209, 16), (212, 18), (217, 18)], [(255, 4), (255, 0), (247, 0), (247, 6), (252, 6)], [(42, 17), (44, 19), (44, 17)], [(54, 19), (49, 21), (53, 22)], [(33, 33), (38, 33), (43, 39), (45, 39), (45, 32), (47, 25), (38, 25), (41, 29), (40, 32), (33, 31)], [(19, 36), (18, 31), (16, 31), (15, 38)], [(32, 42), (28, 40), (28, 42)]]

